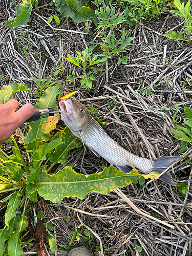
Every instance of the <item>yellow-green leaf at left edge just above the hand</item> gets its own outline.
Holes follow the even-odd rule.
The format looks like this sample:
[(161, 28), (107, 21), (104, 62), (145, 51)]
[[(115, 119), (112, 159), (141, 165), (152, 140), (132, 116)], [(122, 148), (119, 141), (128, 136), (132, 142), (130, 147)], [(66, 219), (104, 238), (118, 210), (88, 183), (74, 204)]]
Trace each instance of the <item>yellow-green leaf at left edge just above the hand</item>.
[(11, 98), (11, 96), (13, 96), (13, 94), (15, 94), (16, 92), (20, 92), (20, 91), (30, 92), (30, 90), (28, 90), (25, 87), (24, 83), (13, 82), (13, 83), (9, 84), (9, 86), (3, 86), (0, 91), (0, 101), (3, 104), (5, 104), (7, 101), (10, 100), (10, 98)]

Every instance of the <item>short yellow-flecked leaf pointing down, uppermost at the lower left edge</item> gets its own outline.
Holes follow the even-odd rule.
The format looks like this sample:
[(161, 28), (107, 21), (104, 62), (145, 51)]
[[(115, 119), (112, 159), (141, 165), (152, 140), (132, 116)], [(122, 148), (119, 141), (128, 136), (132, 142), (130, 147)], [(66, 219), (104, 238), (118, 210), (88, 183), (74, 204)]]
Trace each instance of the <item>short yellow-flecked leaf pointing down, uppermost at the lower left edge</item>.
[(21, 196), (22, 194), (20, 194), (19, 192), (15, 192), (11, 195), (9, 199), (7, 210), (5, 212), (5, 224), (7, 226), (9, 226), (9, 221), (16, 216), (16, 210), (21, 204), (21, 200), (20, 200)]

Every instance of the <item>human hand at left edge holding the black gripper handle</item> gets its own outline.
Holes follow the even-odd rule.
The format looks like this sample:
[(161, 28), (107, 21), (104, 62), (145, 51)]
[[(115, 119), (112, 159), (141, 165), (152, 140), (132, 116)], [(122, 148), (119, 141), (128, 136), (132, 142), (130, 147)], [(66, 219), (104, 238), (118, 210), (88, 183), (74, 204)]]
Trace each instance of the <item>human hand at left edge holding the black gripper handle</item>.
[(17, 108), (18, 101), (15, 99), (11, 99), (5, 104), (0, 101), (0, 145), (34, 114), (31, 104), (25, 104), (16, 111)]

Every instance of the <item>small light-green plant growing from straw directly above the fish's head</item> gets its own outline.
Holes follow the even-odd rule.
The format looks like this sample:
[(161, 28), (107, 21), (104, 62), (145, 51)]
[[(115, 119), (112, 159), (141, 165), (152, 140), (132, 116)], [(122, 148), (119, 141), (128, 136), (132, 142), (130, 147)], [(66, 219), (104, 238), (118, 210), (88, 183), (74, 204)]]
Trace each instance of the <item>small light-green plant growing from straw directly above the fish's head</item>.
[(91, 89), (92, 88), (92, 81), (96, 81), (96, 78), (93, 76), (93, 73), (96, 73), (97, 71), (101, 71), (102, 68), (99, 69), (94, 69), (92, 68), (92, 71), (87, 72), (87, 68), (96, 65), (98, 63), (103, 63), (107, 60), (107, 58), (102, 58), (102, 59), (97, 59), (98, 54), (93, 56), (92, 58), (90, 57), (92, 52), (89, 52), (88, 49), (82, 51), (82, 55), (77, 52), (77, 57), (75, 58), (72, 55), (69, 55), (69, 58), (66, 58), (69, 60), (71, 63), (73, 63), (75, 66), (79, 67), (80, 69), (83, 70), (83, 75), (76, 76), (74, 73), (72, 75), (67, 77), (67, 81), (70, 83), (74, 81), (77, 78), (80, 78), (80, 83), (82, 88), (86, 89)]

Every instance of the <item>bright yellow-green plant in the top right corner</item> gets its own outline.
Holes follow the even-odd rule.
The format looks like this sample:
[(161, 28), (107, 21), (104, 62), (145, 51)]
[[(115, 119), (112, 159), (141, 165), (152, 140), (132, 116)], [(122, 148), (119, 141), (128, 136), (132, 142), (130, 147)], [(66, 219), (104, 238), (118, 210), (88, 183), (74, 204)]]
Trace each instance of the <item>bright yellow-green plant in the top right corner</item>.
[[(175, 39), (175, 40), (182, 40), (182, 41), (190, 41), (191, 40), (191, 22), (192, 22), (192, 13), (191, 13), (191, 6), (190, 0), (184, 6), (184, 3), (181, 4), (180, 0), (175, 0), (174, 4), (178, 10), (173, 10), (171, 12), (177, 14), (184, 22), (184, 31), (183, 32), (175, 32), (169, 30), (167, 34), (164, 36)], [(188, 37), (186, 39), (186, 36)]]

